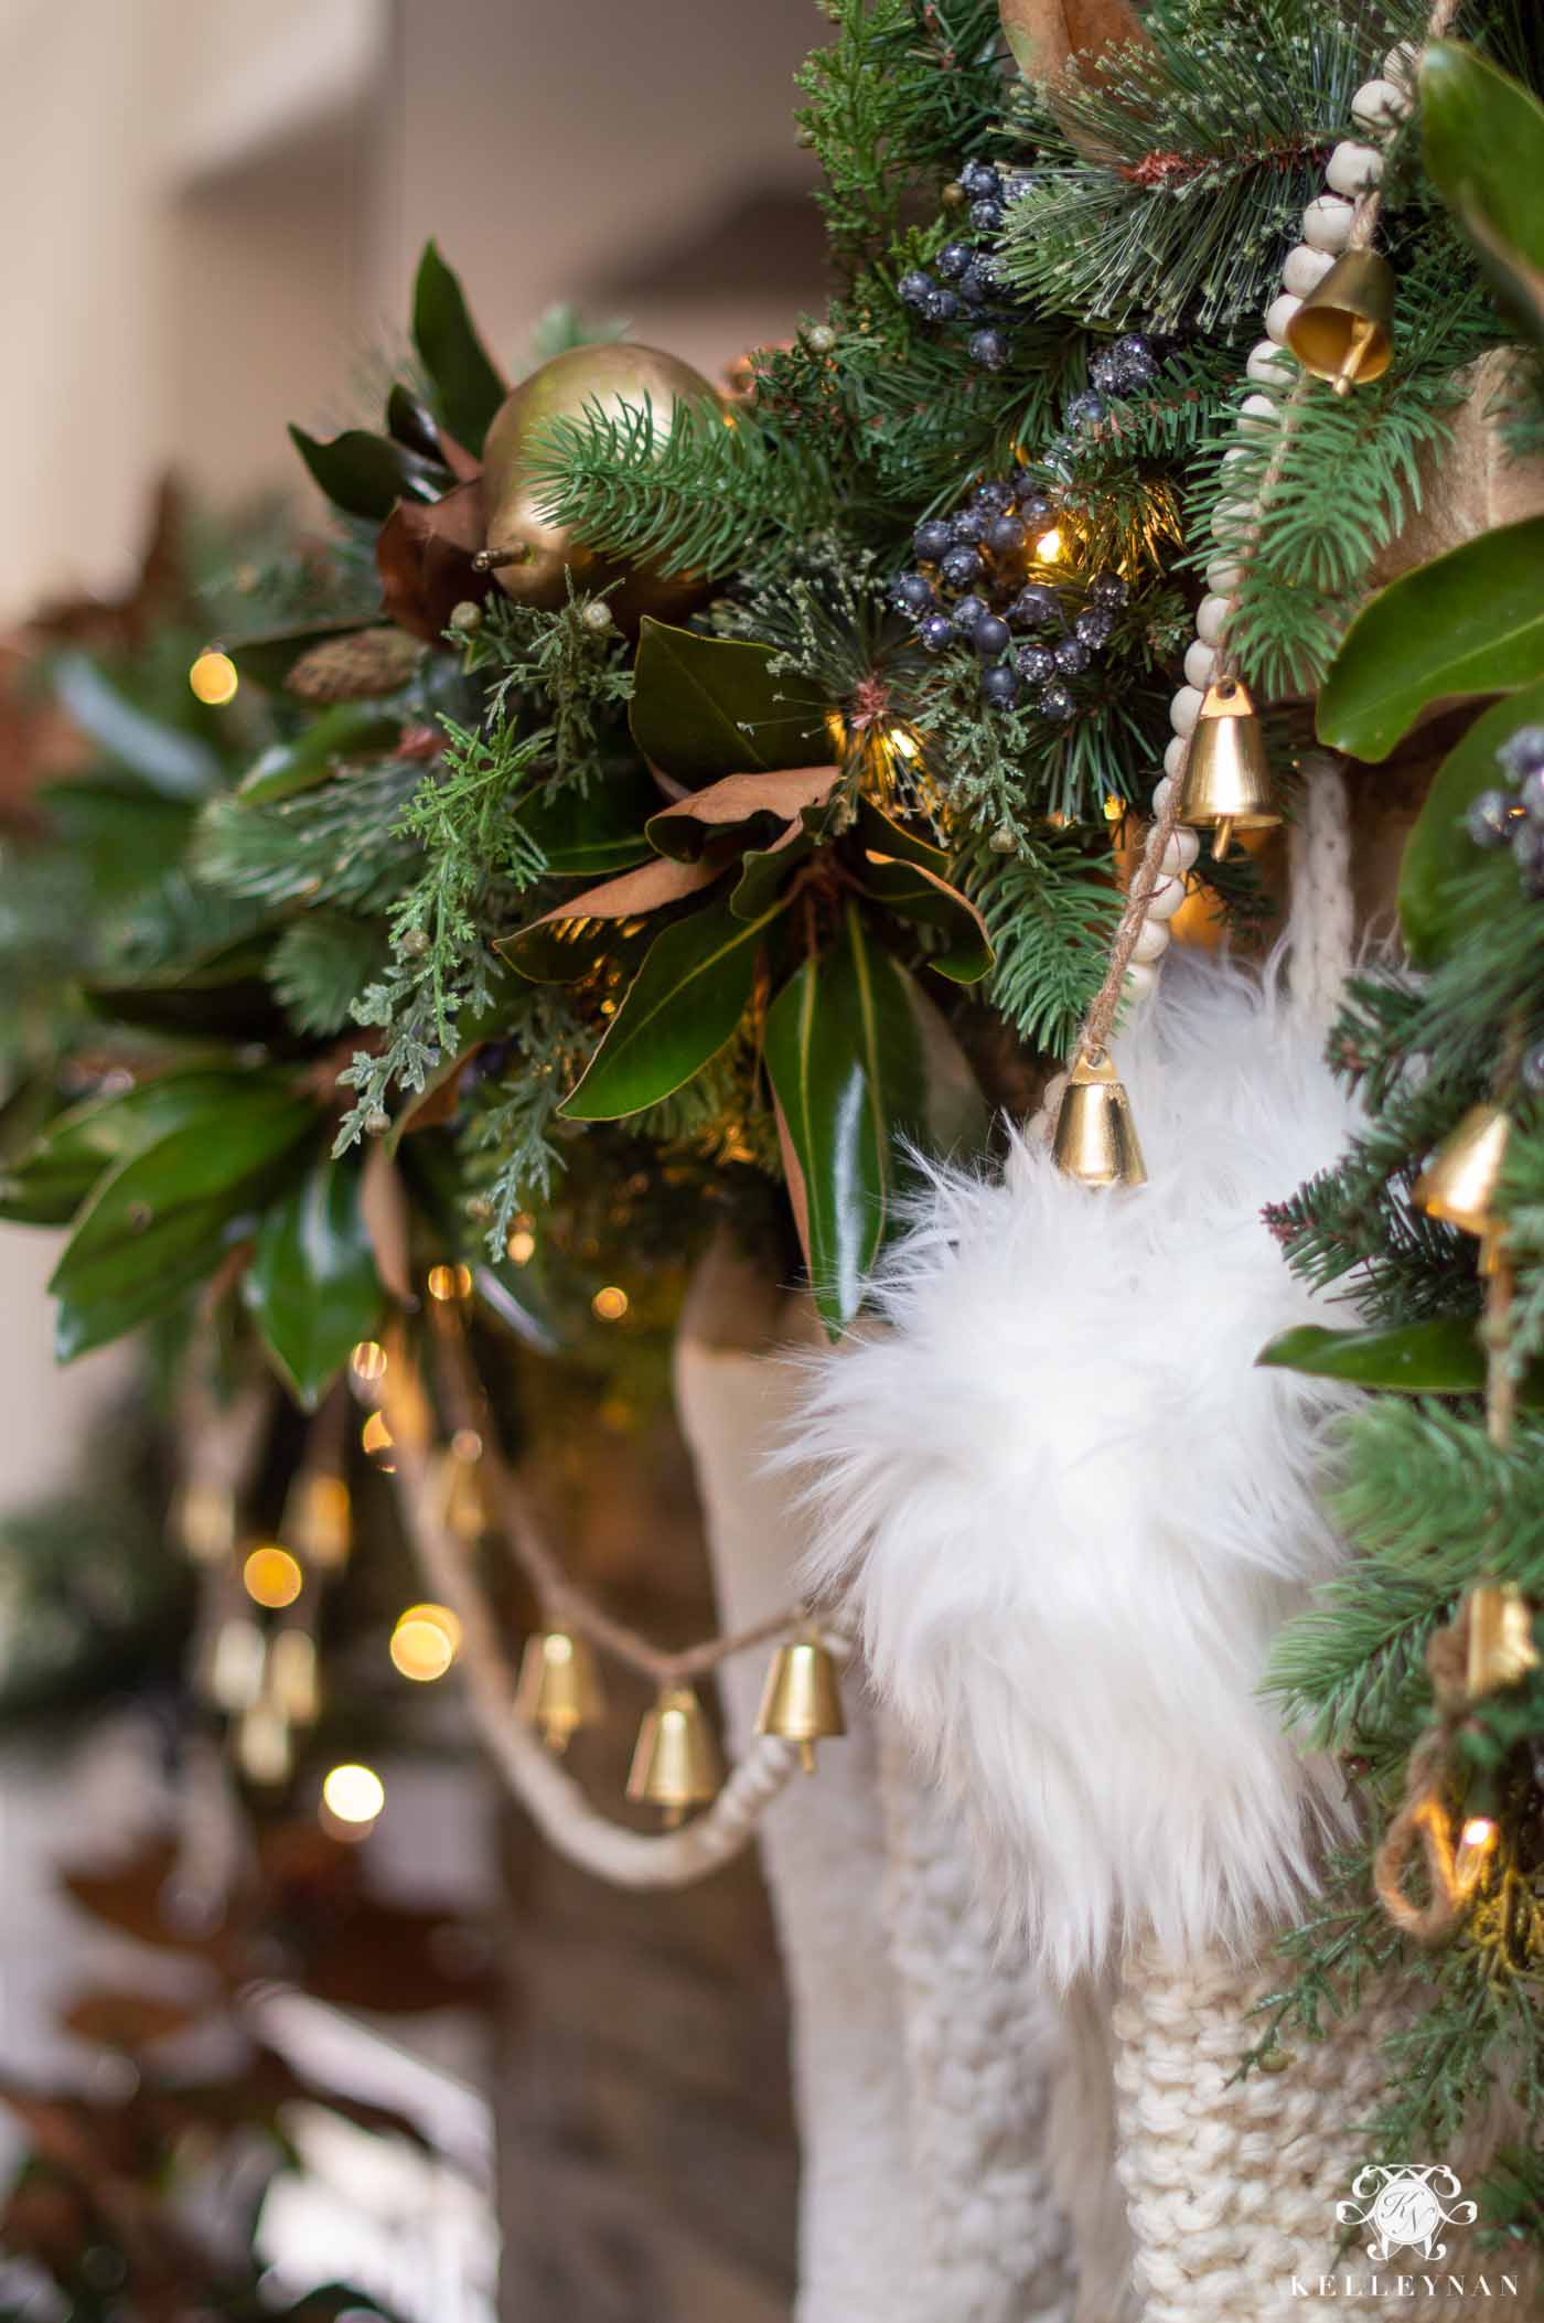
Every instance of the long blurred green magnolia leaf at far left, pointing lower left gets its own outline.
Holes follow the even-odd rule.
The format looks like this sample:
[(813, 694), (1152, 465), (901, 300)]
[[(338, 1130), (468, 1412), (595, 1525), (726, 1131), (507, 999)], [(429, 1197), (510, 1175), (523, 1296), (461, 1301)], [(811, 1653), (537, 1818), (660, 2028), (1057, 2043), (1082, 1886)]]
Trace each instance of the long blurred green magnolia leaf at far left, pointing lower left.
[(107, 1171), (49, 1289), (91, 1306), (174, 1275), (313, 1129), (316, 1108), (288, 1089), (228, 1092)]

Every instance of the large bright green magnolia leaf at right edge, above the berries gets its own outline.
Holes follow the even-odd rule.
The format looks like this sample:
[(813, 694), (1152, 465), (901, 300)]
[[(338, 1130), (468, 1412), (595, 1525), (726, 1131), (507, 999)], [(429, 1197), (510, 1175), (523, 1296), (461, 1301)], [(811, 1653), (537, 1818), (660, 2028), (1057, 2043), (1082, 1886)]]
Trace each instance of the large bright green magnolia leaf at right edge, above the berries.
[(1319, 741), (1388, 757), (1433, 702), (1544, 678), (1544, 516), (1481, 532), (1381, 590), (1319, 695)]

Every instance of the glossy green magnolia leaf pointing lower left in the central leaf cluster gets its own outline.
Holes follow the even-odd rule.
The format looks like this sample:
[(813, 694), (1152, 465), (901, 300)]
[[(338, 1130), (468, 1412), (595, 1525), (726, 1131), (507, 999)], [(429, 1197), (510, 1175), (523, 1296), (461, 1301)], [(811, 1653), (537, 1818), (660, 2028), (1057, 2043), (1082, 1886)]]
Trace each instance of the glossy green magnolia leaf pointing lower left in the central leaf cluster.
[(745, 1015), (757, 948), (780, 908), (736, 920), (717, 904), (655, 936), (611, 1031), (560, 1113), (571, 1122), (615, 1122), (701, 1073)]

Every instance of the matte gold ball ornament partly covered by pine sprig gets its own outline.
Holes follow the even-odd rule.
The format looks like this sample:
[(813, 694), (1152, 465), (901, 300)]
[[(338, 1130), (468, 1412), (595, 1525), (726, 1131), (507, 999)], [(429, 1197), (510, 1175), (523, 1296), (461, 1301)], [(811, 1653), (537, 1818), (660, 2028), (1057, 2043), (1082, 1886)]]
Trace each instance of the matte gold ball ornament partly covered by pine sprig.
[(657, 564), (618, 564), (594, 555), (567, 525), (541, 516), (532, 490), (532, 453), (553, 420), (583, 420), (587, 409), (615, 418), (625, 409), (641, 411), (645, 400), (655, 444), (666, 441), (678, 402), (720, 402), (690, 362), (657, 346), (620, 341), (553, 355), (495, 413), (483, 444), (485, 544), (490, 562), (497, 560), (495, 578), (515, 604), (555, 613), (567, 602), (569, 574), (587, 590), (620, 581), (606, 604), (625, 625), (643, 613), (671, 620), (701, 599), (697, 574), (664, 574)]

